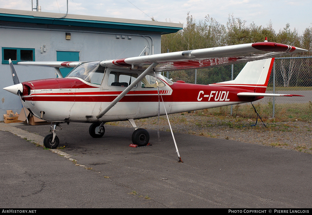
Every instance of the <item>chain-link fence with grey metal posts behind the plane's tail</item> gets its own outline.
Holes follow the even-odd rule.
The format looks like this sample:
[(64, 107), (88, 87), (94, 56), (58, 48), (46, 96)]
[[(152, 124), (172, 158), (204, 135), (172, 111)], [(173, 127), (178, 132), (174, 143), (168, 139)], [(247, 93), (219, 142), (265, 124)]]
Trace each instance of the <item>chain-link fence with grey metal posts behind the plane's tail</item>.
[[(173, 71), (163, 73), (173, 81), (211, 84), (235, 79), (245, 63), (207, 69)], [(312, 122), (312, 57), (275, 58), (266, 93), (297, 94), (304, 97), (265, 97), (254, 102), (261, 117), (281, 120), (302, 120)], [(246, 106), (247, 105), (247, 106)], [(211, 114), (222, 112), (227, 115), (249, 117), (250, 104), (212, 108)], [(222, 109), (222, 110), (221, 110)], [(248, 111), (247, 111), (248, 110)], [(254, 113), (254, 112), (253, 112)]]

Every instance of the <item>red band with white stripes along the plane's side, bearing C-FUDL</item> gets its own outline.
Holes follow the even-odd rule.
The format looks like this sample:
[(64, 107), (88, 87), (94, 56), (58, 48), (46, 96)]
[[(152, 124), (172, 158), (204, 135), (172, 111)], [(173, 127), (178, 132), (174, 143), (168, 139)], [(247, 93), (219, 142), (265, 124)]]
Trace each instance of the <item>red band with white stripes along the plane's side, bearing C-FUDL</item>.
[[(90, 86), (76, 78), (46, 79), (24, 82), (29, 86), (31, 83), (32, 93), (22, 96), (27, 101), (60, 101), (60, 102), (112, 102), (122, 91), (101, 91), (99, 87)], [(225, 84), (226, 85), (226, 84)], [(259, 85), (244, 86), (218, 86), (197, 85), (188, 83), (174, 83), (172, 90), (160, 90), (158, 98), (157, 88), (153, 90), (134, 89), (130, 91), (120, 102), (249, 102), (251, 99), (260, 97), (238, 97), (237, 93), (255, 92)], [(88, 89), (89, 88), (89, 89)], [(265, 87), (263, 90), (265, 91)], [(36, 92), (33, 92), (35, 90)], [(58, 93), (52, 93), (58, 90)], [(64, 90), (64, 92), (62, 92)], [(93, 92), (87, 92), (88, 90)], [(61, 91), (61, 92), (60, 92)], [(77, 91), (77, 92), (75, 92)], [(81, 92), (82, 91), (82, 92)], [(83, 92), (84, 91), (84, 92)], [(97, 92), (95, 92), (97, 91)], [(50, 93), (51, 92), (51, 93)]]

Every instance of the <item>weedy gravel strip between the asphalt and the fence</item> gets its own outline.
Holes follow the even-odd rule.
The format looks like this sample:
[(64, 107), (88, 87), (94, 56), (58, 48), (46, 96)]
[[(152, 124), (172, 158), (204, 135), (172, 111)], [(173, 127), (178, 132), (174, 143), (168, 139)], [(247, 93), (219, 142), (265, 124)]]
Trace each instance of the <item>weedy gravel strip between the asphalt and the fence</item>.
[[(275, 119), (263, 119), (265, 127), (259, 118), (255, 125), (256, 117), (244, 119), (231, 116), (198, 116), (193, 112), (177, 113), (168, 117), (174, 133), (236, 140), (312, 154), (312, 123), (309, 122), (276, 122)], [(135, 120), (135, 123), (140, 128), (157, 130), (158, 117)], [(131, 126), (128, 121), (108, 124)], [(160, 117), (159, 130), (170, 132), (166, 116)]]

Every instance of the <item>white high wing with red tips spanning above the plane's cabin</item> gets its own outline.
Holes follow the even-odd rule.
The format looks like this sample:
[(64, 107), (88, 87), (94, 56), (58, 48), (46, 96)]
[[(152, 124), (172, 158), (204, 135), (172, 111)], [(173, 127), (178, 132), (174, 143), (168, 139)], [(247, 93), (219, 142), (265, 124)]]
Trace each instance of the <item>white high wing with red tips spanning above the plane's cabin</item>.
[[(147, 68), (157, 63), (156, 71), (208, 68), (235, 63), (245, 63), (308, 51), (274, 42), (256, 42), (232, 46), (196, 49), (190, 51), (154, 54), (140, 57), (101, 61), (103, 67)], [(76, 67), (82, 62), (19, 62), (25, 66)]]

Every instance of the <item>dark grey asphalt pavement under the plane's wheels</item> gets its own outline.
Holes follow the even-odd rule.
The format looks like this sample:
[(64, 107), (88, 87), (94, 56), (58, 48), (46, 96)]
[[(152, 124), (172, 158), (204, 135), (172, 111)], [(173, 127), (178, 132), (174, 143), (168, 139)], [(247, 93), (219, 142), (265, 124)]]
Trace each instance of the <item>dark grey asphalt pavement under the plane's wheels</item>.
[[(312, 155), (232, 140), (133, 128), (62, 124), (60, 150), (46, 150), (50, 125), (0, 123), (1, 208), (310, 208)], [(130, 126), (129, 126), (130, 127)]]

